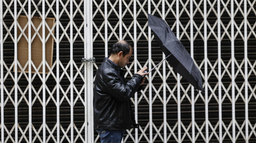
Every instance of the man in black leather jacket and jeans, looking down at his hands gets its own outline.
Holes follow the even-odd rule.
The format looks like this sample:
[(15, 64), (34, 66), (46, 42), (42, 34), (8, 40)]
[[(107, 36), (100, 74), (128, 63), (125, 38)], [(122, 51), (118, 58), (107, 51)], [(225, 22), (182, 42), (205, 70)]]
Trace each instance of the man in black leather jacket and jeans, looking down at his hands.
[(128, 42), (119, 41), (97, 69), (93, 91), (94, 129), (101, 143), (120, 143), (125, 129), (137, 125), (130, 98), (141, 90), (139, 87), (145, 82), (143, 75), (148, 72), (143, 73), (147, 69), (144, 67), (126, 83), (123, 68), (129, 64), (132, 53)]

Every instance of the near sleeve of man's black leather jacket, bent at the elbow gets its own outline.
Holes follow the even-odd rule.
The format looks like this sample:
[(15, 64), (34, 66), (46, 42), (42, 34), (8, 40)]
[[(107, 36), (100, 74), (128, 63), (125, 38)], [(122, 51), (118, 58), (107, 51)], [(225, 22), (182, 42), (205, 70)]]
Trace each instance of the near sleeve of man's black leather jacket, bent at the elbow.
[(128, 101), (133, 97), (135, 92), (139, 89), (141, 79), (141, 75), (134, 74), (131, 80), (129, 80), (125, 85), (115, 72), (108, 72), (103, 77), (103, 81), (108, 88), (109, 95), (119, 101)]

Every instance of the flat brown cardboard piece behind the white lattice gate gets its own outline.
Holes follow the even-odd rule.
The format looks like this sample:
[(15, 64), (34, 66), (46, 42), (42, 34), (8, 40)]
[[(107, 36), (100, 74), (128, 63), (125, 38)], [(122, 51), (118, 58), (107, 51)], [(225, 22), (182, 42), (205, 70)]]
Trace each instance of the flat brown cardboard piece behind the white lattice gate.
[[(20, 15), (18, 17), (17, 21), (18, 21), (20, 27), (22, 29), (24, 29), (24, 27), (28, 23), (28, 18), (26, 16)], [(35, 28), (38, 29), (40, 23), (42, 22), (42, 18), (41, 17), (32, 17), (31, 21), (34, 24)], [(51, 29), (55, 23), (55, 18), (45, 18), (45, 23), (47, 23)], [(18, 35), (17, 38), (19, 38), (20, 33), (21, 33), (20, 29), (17, 28), (17, 35)], [(28, 38), (28, 26), (26, 27), (26, 30), (24, 33), (25, 33), (26, 37)], [(43, 56), (42, 56), (43, 45), (42, 45), (41, 40), (39, 39), (39, 36), (37, 34), (34, 36), (34, 33), (35, 33), (35, 30), (31, 25), (31, 41), (32, 41), (32, 43), (31, 43), (31, 59), (32, 59), (32, 62), (35, 65), (35, 67), (38, 68), (40, 63), (43, 60)], [(40, 27), (38, 33), (42, 38), (42, 26)], [(54, 30), (52, 31), (52, 33), (54, 34)], [(47, 38), (48, 34), (49, 34), (49, 30), (45, 26), (45, 39)], [(51, 35), (49, 36), (47, 41), (45, 40), (45, 60), (50, 67), (52, 67), (53, 42), (54, 42), (54, 39)], [(24, 35), (22, 35), (22, 37), (20, 38), (20, 40), (17, 44), (17, 52), (18, 52), (17, 53), (18, 61), (19, 61), (20, 65), (24, 68), (26, 63), (28, 62), (28, 42), (26, 41), (26, 38), (24, 37)], [(22, 72), (19, 66), (18, 66), (17, 71)], [(26, 69), (24, 71), (26, 73), (28, 73), (28, 66), (26, 67)], [(42, 74), (43, 66), (41, 66), (38, 71), (40, 74)], [(35, 73), (35, 69), (33, 68), (32, 65), (31, 65), (31, 72)], [(49, 72), (49, 69), (45, 65), (45, 73), (48, 74), (48, 72)]]

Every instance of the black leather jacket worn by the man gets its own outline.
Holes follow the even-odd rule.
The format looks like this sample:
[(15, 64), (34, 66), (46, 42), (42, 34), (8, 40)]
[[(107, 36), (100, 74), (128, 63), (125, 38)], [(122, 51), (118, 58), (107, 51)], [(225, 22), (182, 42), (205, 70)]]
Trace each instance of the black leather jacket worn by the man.
[(134, 74), (127, 83), (124, 71), (105, 57), (97, 69), (93, 91), (94, 129), (135, 127), (130, 98), (139, 89), (142, 76)]

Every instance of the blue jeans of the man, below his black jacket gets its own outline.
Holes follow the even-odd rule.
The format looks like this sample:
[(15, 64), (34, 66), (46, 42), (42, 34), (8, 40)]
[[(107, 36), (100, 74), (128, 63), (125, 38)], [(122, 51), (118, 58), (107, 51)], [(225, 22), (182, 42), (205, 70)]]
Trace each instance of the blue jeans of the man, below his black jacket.
[(121, 143), (125, 130), (97, 129), (101, 143)]

